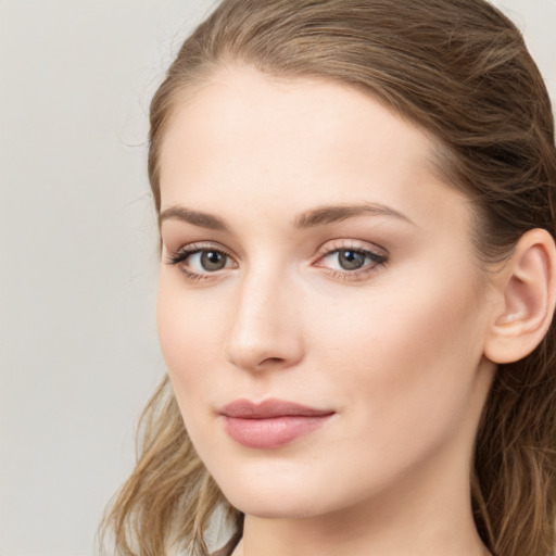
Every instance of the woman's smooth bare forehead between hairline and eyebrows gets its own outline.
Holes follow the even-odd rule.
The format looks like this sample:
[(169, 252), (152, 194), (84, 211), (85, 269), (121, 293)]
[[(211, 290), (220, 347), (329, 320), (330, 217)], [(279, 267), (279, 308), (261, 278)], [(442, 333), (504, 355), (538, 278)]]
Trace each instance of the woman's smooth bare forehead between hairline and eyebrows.
[(367, 200), (430, 218), (446, 195), (465, 201), (437, 177), (433, 152), (424, 130), (352, 87), (228, 67), (186, 96), (169, 122), (162, 208)]

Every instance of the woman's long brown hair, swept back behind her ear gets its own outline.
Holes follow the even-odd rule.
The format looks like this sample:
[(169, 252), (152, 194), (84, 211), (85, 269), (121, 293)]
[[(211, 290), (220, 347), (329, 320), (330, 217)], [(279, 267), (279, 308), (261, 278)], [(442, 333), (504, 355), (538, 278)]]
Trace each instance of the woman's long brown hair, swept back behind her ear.
[[(516, 26), (483, 0), (224, 0), (185, 41), (151, 103), (149, 177), (180, 99), (226, 64), (319, 77), (381, 100), (435, 138), (438, 169), (475, 205), (483, 260), (522, 233), (555, 235), (551, 102)], [(552, 556), (556, 503), (556, 350), (551, 327), (498, 368), (470, 479), (478, 531), (496, 556)], [(214, 508), (229, 506), (188, 439), (167, 379), (143, 414), (137, 467), (104, 528), (117, 554), (206, 554)]]

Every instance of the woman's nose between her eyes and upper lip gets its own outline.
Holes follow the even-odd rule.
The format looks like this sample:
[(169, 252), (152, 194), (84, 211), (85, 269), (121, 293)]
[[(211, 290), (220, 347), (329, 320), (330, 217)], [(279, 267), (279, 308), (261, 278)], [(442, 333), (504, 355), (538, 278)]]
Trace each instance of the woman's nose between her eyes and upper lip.
[(239, 287), (225, 357), (251, 372), (289, 368), (303, 358), (301, 307), (295, 289), (268, 271), (245, 276)]

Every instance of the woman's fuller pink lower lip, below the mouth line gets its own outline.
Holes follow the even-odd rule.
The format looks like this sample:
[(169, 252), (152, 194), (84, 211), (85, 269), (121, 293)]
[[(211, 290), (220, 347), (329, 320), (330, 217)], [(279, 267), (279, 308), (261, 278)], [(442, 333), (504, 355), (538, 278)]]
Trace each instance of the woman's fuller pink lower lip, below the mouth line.
[(285, 415), (265, 419), (225, 417), (225, 429), (243, 446), (268, 450), (289, 444), (319, 429), (331, 415)]

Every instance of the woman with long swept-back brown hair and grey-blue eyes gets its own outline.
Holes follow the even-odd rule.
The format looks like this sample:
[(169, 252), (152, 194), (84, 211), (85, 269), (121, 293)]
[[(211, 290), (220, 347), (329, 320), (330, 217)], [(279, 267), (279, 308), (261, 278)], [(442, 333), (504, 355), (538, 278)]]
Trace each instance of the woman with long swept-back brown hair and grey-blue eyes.
[[(165, 381), (118, 554), (554, 553), (556, 149), (483, 0), (224, 0), (151, 104)], [(184, 426), (185, 424), (185, 426)]]

